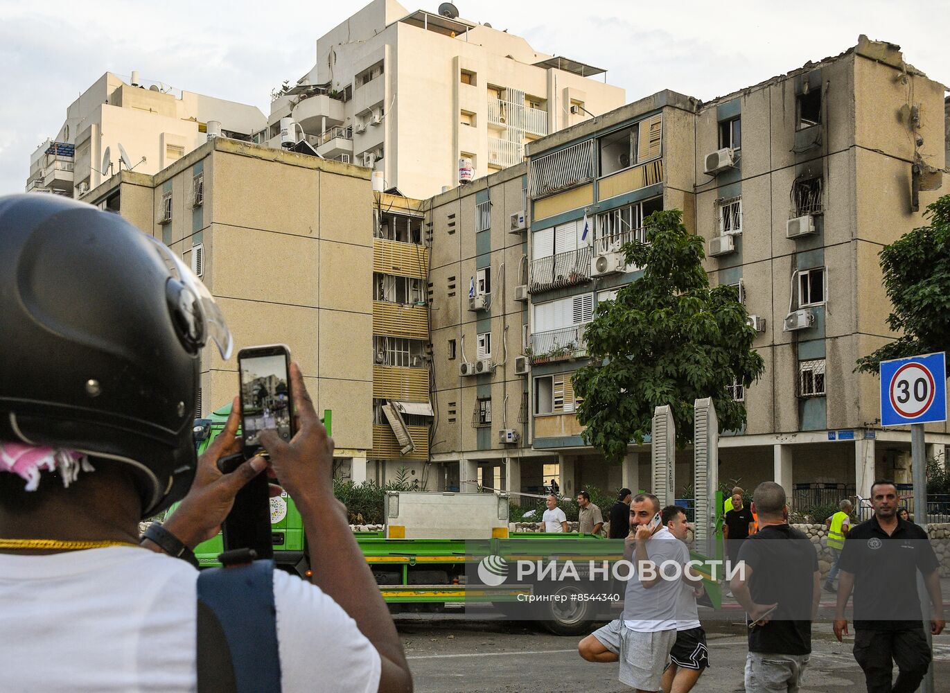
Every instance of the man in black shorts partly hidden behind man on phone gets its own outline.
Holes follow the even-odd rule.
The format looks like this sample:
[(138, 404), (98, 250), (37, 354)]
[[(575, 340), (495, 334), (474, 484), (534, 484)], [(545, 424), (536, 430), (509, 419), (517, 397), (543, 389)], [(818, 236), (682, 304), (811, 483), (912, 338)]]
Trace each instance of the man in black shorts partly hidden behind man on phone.
[[(663, 525), (676, 539), (686, 544), (689, 528), (686, 509), (667, 506), (663, 509)], [(703, 587), (684, 584), (676, 602), (676, 642), (670, 651), (670, 665), (663, 672), (662, 688), (666, 693), (689, 693), (710, 665), (706, 631), (699, 624), (696, 599), (703, 596)]]

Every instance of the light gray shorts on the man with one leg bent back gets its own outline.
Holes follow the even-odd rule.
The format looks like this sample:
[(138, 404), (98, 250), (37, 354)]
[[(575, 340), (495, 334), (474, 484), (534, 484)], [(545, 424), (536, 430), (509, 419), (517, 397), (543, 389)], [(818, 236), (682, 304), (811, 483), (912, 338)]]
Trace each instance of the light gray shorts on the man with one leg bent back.
[(620, 683), (639, 690), (658, 691), (663, 670), (670, 661), (676, 629), (641, 633), (617, 619), (594, 631), (594, 637), (620, 661)]

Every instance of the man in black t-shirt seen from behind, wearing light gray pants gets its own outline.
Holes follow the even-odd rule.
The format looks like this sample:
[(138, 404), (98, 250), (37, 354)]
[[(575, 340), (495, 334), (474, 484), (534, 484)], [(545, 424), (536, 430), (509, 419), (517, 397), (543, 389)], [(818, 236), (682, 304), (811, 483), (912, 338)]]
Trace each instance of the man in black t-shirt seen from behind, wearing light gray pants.
[(796, 693), (811, 654), (821, 572), (807, 536), (788, 526), (785, 490), (766, 481), (752, 494), (759, 531), (739, 549), (732, 594), (749, 614), (746, 693)]

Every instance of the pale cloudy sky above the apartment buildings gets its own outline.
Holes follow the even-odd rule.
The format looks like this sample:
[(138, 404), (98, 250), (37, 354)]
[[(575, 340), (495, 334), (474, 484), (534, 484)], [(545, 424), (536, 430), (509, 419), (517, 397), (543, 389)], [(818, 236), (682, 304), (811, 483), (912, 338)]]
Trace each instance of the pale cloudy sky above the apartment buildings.
[[(365, 3), (0, 0), (0, 195), (23, 192), (29, 155), (106, 71), (270, 111), (314, 65), (317, 37)], [(607, 69), (627, 101), (664, 88), (709, 101), (837, 55), (858, 35), (950, 84), (950, 0), (646, 2), (457, 0), (461, 16), (539, 52)], [(404, 2), (435, 11), (438, 0)]]

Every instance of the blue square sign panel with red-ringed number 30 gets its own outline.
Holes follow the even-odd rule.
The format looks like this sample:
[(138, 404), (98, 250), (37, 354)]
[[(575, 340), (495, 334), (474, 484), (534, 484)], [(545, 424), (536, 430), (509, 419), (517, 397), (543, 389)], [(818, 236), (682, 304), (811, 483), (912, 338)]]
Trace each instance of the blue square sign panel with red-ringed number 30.
[(881, 425), (947, 420), (943, 352), (881, 361)]

